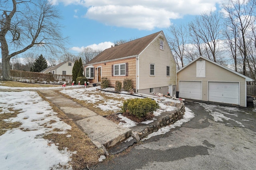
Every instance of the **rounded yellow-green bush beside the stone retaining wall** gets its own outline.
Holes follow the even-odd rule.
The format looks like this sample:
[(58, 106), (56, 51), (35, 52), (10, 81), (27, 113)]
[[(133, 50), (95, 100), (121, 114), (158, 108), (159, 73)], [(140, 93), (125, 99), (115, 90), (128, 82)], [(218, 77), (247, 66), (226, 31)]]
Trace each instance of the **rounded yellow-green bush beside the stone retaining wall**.
[(128, 111), (130, 114), (138, 118), (146, 116), (147, 113), (156, 111), (159, 108), (158, 103), (150, 98), (128, 99), (124, 102), (122, 111)]

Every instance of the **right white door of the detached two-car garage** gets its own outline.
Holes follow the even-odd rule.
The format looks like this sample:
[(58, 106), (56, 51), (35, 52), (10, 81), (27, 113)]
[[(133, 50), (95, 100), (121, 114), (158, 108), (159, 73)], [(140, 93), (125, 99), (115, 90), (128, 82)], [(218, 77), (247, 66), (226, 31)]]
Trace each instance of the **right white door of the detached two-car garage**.
[(209, 82), (209, 101), (239, 104), (239, 83)]

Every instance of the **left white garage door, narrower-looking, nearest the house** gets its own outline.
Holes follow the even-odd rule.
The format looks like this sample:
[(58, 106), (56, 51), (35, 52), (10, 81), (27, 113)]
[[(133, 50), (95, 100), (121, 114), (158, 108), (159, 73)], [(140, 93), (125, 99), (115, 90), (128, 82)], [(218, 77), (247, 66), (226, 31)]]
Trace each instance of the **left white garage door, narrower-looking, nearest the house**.
[(179, 97), (202, 100), (202, 82), (180, 81)]

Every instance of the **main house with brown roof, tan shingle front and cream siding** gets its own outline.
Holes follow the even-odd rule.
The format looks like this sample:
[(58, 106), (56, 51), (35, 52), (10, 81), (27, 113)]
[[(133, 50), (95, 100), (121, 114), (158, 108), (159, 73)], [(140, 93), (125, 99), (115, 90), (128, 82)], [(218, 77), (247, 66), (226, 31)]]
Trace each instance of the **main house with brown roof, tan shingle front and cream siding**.
[(90, 83), (107, 77), (109, 86), (117, 80), (123, 86), (129, 78), (138, 93), (176, 94), (176, 62), (163, 31), (104, 50), (86, 63), (84, 71)]

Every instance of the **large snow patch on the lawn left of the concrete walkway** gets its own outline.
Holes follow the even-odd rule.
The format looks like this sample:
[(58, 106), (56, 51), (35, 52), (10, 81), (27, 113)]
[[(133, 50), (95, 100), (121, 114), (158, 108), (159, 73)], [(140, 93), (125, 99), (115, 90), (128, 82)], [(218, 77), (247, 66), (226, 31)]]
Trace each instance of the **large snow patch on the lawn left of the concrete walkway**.
[[(0, 114), (10, 113), (11, 108), (20, 110), (19, 114), (4, 121), (18, 121), (22, 125), (0, 136), (0, 169), (49, 170), (62, 169), (59, 164), (68, 166), (70, 156), (75, 153), (58, 150), (58, 146), (42, 138), (49, 133), (66, 133), (71, 129), (56, 116), (49, 103), (36, 92), (1, 92)], [(54, 128), (60, 131), (52, 131)]]

